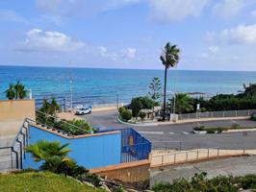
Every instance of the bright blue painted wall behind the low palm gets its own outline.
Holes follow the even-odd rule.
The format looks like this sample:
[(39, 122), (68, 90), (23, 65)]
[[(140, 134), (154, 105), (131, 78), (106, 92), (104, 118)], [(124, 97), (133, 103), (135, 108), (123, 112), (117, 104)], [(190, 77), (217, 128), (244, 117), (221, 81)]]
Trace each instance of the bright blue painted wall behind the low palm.
[[(69, 143), (68, 148), (72, 150), (69, 156), (77, 161), (79, 165), (86, 168), (104, 167), (118, 164), (121, 159), (121, 133), (103, 134), (85, 138), (66, 139), (51, 132), (44, 132), (35, 127), (29, 129), (29, 144), (39, 139), (53, 141), (59, 140), (62, 144)], [(33, 158), (26, 154), (23, 168), (38, 168)]]

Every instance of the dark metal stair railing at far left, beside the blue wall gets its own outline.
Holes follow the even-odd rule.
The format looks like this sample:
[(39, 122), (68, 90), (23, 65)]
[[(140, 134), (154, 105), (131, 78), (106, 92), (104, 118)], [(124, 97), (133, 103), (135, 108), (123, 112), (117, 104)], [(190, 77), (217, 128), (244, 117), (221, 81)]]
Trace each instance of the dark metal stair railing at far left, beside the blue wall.
[(0, 147), (0, 172), (22, 169), (23, 159), (26, 158), (24, 147), (28, 144), (29, 120), (25, 119), (13, 143)]

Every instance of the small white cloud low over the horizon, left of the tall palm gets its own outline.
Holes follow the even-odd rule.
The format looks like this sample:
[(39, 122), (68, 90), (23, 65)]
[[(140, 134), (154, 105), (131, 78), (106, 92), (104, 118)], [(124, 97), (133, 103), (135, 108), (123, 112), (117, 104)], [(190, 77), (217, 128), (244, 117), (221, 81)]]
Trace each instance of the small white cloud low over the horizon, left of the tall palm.
[(134, 59), (136, 57), (137, 50), (135, 48), (127, 48), (119, 51), (111, 52), (107, 47), (98, 46), (99, 54), (104, 58), (111, 60), (118, 59)]

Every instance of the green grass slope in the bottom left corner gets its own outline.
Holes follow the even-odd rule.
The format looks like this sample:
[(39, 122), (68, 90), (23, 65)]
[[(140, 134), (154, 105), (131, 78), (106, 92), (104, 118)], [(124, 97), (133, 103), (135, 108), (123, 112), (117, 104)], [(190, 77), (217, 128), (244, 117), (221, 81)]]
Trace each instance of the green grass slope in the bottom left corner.
[(5, 192), (100, 192), (77, 180), (50, 172), (0, 175), (0, 191)]

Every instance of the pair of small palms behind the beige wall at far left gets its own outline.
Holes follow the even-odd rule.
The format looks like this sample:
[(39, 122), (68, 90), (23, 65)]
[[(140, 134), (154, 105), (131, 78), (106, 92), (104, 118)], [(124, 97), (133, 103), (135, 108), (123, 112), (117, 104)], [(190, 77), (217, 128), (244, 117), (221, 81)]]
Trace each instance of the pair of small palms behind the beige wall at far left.
[(16, 84), (9, 84), (9, 88), (5, 91), (5, 94), (9, 100), (24, 99), (27, 96), (27, 90), (24, 84), (17, 81)]

